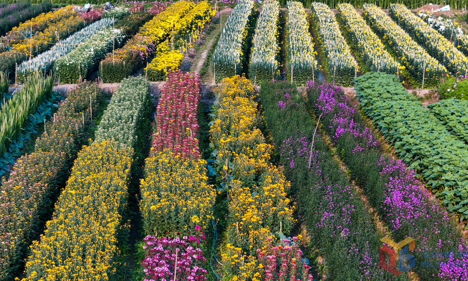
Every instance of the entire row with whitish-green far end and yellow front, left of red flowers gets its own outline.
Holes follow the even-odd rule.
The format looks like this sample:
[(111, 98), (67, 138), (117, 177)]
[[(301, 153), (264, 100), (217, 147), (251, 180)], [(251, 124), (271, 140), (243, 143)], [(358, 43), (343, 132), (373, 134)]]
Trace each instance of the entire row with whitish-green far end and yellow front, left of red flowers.
[[(23, 279), (108, 280), (127, 263), (121, 249), (128, 239), (128, 183), (137, 147), (135, 136), (149, 102), (142, 77), (122, 81), (104, 112), (96, 141), (78, 152), (66, 188), (47, 230), (34, 241)], [(53, 259), (53, 263), (43, 263)]]

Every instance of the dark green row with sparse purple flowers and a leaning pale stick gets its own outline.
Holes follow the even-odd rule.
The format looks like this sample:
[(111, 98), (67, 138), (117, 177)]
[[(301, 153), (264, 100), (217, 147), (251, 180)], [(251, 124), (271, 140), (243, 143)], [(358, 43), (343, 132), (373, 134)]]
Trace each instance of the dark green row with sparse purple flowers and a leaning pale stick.
[[(304, 216), (309, 245), (319, 248), (332, 280), (409, 280), (379, 266), (379, 233), (355, 188), (333, 159), (296, 87), (262, 85), (260, 99), (280, 163)], [(315, 134), (314, 134), (315, 133)], [(311, 149), (313, 140), (313, 149)]]

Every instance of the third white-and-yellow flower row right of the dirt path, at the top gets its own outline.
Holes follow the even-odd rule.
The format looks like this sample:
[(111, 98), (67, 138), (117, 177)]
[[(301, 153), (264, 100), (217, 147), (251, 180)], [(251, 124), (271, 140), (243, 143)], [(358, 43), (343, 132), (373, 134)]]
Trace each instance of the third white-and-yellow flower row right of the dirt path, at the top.
[(286, 20), (286, 71), (288, 80), (303, 85), (318, 78), (318, 63), (314, 55), (313, 39), (309, 33), (309, 21), (300, 2), (288, 2)]

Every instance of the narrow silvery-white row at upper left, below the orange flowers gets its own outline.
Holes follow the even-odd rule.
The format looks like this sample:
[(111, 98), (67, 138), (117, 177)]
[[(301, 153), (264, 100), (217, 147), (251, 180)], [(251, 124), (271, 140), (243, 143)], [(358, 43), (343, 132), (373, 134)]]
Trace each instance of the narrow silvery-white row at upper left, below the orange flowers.
[(97, 31), (113, 24), (112, 19), (98, 20), (87, 27), (81, 29), (63, 41), (59, 41), (50, 50), (24, 61), (18, 66), (18, 76), (28, 76), (33, 72), (39, 71), (48, 73), (52, 70), (54, 63), (61, 57), (70, 53), (79, 43), (90, 38)]

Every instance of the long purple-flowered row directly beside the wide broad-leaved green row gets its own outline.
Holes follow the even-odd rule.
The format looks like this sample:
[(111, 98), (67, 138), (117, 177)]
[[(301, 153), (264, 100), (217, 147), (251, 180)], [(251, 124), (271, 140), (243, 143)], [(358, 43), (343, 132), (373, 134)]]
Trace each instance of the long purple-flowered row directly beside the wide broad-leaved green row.
[(413, 271), (421, 280), (435, 280), (439, 268), (424, 264), (424, 253), (454, 251), (464, 244), (460, 229), (405, 163), (384, 152), (356, 106), (340, 87), (308, 83), (308, 108), (321, 122), (340, 158), (377, 210), (393, 241), (415, 240)]

